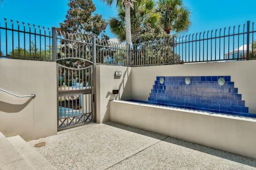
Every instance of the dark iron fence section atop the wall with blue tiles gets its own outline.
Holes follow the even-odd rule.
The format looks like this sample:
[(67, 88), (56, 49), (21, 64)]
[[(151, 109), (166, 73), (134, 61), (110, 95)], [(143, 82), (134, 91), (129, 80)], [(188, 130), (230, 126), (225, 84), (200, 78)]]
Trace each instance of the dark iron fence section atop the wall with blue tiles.
[(256, 59), (254, 22), (131, 47), (131, 66)]

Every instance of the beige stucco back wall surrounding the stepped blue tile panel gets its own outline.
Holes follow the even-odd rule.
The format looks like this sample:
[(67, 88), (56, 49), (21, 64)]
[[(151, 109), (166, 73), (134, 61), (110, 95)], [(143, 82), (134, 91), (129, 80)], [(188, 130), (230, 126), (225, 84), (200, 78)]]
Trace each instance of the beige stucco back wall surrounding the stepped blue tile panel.
[(132, 67), (132, 99), (148, 100), (157, 76), (230, 75), (250, 113), (256, 113), (256, 61)]

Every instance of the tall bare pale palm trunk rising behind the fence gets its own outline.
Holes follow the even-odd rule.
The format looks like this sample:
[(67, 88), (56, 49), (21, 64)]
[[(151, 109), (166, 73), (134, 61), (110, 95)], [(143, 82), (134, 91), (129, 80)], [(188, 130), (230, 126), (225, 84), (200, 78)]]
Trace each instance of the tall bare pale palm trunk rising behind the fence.
[(131, 33), (131, 6), (125, 3), (125, 36), (126, 45), (131, 45), (132, 43), (132, 33)]

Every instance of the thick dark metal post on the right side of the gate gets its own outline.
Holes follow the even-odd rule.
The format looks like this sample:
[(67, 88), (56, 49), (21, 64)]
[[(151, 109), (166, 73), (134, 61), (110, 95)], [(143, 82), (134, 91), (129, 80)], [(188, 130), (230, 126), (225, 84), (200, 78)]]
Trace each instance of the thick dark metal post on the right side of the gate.
[(92, 90), (92, 122), (97, 122), (97, 98), (95, 95), (97, 95), (97, 89), (96, 89), (96, 37), (93, 36), (92, 38), (92, 69), (91, 69), (91, 90)]

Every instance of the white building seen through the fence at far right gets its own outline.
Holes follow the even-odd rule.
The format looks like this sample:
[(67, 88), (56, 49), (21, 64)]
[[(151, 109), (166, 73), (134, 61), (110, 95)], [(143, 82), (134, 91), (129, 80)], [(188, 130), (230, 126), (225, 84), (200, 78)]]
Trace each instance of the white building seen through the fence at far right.
[[(238, 50), (239, 49), (239, 50)], [(252, 45), (250, 44), (250, 52), (252, 51)], [(233, 53), (234, 53), (234, 59), (236, 58), (246, 58), (247, 53), (247, 45), (242, 45), (239, 48), (234, 49), (233, 51), (230, 51), (229, 53), (225, 54), (225, 59), (233, 59)]]

